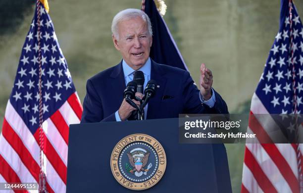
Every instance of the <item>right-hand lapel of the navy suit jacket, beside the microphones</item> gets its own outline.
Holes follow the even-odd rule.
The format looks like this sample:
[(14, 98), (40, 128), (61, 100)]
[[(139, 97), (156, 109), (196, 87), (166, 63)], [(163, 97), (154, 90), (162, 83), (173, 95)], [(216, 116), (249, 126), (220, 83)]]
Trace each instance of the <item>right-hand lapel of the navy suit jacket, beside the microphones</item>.
[(163, 76), (164, 74), (165, 72), (160, 67), (160, 65), (152, 60), (151, 80), (155, 80), (159, 88), (157, 88), (155, 96), (152, 97), (149, 102), (147, 119), (155, 119), (157, 117), (160, 117), (160, 107), (167, 81), (166, 78)]

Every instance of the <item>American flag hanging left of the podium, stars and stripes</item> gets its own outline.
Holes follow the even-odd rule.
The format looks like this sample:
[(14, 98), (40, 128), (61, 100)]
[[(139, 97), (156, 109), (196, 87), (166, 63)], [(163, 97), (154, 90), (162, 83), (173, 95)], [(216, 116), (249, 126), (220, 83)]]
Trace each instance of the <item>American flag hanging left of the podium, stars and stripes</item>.
[[(0, 135), (0, 182), (39, 183), (39, 142), (43, 141), (43, 171), (46, 175), (47, 190), (63, 193), (66, 190), (69, 124), (80, 123), (82, 105), (50, 16), (44, 5), (40, 3), (41, 6), (38, 6), (38, 3), (40, 2), (37, 2), (35, 15), (22, 48), (15, 82), (5, 110)], [(42, 65), (41, 96), (39, 52)], [(43, 113), (41, 136), (40, 97)]]

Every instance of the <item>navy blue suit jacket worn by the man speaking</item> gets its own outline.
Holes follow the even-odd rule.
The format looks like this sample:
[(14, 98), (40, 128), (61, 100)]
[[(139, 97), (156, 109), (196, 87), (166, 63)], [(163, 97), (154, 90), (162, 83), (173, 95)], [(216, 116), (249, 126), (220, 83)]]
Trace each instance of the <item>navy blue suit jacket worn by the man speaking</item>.
[[(152, 61), (151, 80), (160, 87), (149, 102), (147, 119), (177, 118), (182, 113), (228, 114), (225, 101), (216, 92), (212, 108), (201, 103), (200, 91), (188, 71)], [(116, 121), (125, 88), (122, 62), (90, 78), (81, 123)]]

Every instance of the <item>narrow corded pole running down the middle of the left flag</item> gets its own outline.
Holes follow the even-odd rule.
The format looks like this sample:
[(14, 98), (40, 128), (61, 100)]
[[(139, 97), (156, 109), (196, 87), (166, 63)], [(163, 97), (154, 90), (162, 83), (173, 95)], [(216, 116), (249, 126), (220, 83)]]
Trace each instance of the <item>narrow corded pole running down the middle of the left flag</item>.
[(38, 39), (38, 61), (39, 61), (39, 146), (40, 146), (40, 175), (39, 175), (39, 193), (47, 193), (46, 189), (46, 175), (44, 172), (43, 163), (43, 149), (44, 149), (44, 138), (43, 134), (43, 104), (42, 104), (42, 61), (41, 61), (41, 2), (37, 0), (37, 39)]

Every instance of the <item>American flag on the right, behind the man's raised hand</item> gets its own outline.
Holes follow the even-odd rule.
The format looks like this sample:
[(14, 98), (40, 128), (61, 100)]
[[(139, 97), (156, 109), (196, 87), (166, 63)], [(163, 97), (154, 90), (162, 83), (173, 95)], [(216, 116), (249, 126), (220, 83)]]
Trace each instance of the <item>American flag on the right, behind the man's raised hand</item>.
[[(256, 114), (300, 114), (302, 96), (303, 26), (292, 0), (282, 0), (280, 29), (252, 98), (248, 131), (267, 136), (268, 125), (277, 124)], [(290, 125), (286, 135), (295, 132)], [(246, 144), (242, 193), (301, 192), (302, 152), (302, 144)]]

